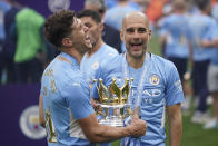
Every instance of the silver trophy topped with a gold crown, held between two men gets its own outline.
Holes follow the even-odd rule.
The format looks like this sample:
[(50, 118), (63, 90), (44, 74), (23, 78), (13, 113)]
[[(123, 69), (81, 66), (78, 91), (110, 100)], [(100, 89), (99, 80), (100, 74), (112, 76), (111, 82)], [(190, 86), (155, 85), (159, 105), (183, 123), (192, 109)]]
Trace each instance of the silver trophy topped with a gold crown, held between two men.
[[(99, 86), (97, 81), (99, 81)], [(97, 110), (99, 124), (116, 127), (125, 126), (125, 119), (132, 115), (128, 104), (132, 81), (132, 78), (130, 80), (125, 79), (123, 86), (119, 88), (116, 84), (116, 78), (113, 78), (112, 84), (107, 88), (101, 78), (99, 80), (95, 79), (100, 97)]]

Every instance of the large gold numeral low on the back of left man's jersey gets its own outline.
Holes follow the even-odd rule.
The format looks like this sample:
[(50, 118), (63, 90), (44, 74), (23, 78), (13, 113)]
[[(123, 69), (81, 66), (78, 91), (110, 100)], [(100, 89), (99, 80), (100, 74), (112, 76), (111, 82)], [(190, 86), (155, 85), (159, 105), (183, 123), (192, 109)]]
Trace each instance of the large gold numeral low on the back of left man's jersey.
[(47, 132), (47, 138), (49, 143), (58, 142), (50, 109), (46, 111), (46, 132)]

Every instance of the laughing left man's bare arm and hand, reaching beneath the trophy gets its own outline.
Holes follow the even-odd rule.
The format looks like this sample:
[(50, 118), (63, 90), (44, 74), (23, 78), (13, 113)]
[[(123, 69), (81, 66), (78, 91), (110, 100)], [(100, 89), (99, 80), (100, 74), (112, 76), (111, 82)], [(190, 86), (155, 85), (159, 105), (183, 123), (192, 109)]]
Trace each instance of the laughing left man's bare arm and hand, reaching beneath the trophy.
[(145, 135), (147, 129), (146, 121), (139, 119), (137, 114), (135, 114), (132, 123), (128, 127), (99, 125), (96, 114), (79, 119), (78, 123), (91, 143), (109, 142), (126, 136), (140, 137)]

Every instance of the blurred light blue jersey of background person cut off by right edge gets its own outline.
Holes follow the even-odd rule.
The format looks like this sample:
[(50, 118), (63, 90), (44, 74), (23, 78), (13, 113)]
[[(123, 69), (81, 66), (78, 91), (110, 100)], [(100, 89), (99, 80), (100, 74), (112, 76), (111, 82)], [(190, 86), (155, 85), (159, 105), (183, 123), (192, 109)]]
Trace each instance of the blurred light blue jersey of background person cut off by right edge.
[[(205, 39), (207, 40), (214, 40), (217, 39), (218, 40), (218, 25), (216, 25), (215, 29), (210, 30), (207, 36), (205, 37)], [(210, 58), (211, 64), (214, 65), (218, 65), (218, 48), (212, 48), (214, 53)]]

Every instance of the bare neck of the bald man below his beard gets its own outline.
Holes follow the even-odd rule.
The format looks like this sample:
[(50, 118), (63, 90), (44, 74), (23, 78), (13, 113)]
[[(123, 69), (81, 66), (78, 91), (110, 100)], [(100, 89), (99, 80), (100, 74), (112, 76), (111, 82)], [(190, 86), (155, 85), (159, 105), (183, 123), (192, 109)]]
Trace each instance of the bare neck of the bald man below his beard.
[(127, 52), (127, 62), (135, 69), (141, 68), (146, 59), (146, 53), (141, 58), (133, 58)]

